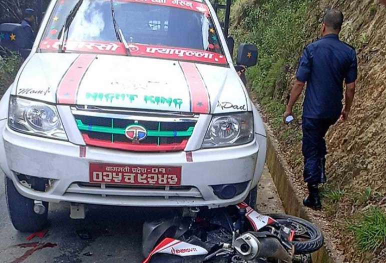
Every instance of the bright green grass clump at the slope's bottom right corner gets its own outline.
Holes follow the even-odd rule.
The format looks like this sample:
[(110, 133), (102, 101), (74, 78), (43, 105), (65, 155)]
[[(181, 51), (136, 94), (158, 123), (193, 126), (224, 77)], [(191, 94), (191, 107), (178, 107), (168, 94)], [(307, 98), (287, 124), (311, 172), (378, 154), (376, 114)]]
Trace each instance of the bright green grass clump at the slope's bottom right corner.
[(386, 212), (378, 207), (360, 214), (349, 229), (362, 252), (374, 252), (386, 246)]

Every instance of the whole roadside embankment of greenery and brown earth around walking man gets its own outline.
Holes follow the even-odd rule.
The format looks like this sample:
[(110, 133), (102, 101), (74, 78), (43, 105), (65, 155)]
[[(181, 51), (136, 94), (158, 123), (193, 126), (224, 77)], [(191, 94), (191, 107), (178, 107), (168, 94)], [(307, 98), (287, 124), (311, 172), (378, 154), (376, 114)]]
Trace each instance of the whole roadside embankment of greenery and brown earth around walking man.
[[(355, 47), (360, 73), (351, 119), (332, 127), (326, 138), (330, 151), (328, 182), (321, 189), (324, 209), (316, 217), (327, 222), (330, 232), (338, 238), (336, 249), (347, 261), (383, 263), (386, 262), (386, 48), (381, 42), (386, 37), (382, 20), (386, 8), (377, 0), (235, 0), (230, 34), (235, 38), (235, 46), (247, 42), (258, 47), (258, 65), (247, 71), (248, 88), (280, 141), (281, 152), (296, 175), (299, 194), (305, 195), (302, 99), (294, 107), (296, 121), (285, 125), (282, 114), (301, 52), (307, 43), (317, 39), (322, 14), (331, 6), (345, 13), (341, 39)], [(378, 106), (379, 103), (383, 106)], [(368, 114), (363, 113), (367, 110)]]

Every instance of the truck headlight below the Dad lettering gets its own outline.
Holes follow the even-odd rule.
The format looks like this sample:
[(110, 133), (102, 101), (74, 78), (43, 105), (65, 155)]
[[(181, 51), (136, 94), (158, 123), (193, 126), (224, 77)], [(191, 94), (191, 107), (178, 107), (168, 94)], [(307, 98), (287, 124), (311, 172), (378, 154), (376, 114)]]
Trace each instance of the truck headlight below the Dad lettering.
[(252, 112), (214, 116), (202, 143), (202, 148), (234, 146), (252, 140)]

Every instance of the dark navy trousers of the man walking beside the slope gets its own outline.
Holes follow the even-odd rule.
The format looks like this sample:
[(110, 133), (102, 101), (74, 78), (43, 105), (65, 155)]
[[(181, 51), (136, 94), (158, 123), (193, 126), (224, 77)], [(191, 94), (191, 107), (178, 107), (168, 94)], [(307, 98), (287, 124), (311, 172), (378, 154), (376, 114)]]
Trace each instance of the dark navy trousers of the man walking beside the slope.
[(307, 118), (303, 117), (304, 181), (310, 184), (324, 183), (325, 155), (327, 154), (324, 136), (328, 128), (337, 118)]

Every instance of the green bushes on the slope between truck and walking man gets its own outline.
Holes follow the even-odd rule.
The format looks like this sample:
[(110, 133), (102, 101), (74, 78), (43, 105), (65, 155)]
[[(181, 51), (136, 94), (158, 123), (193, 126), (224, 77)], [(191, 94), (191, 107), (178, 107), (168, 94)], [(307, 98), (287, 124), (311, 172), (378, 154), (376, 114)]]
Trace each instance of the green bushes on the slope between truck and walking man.
[[(316, 18), (309, 19), (309, 11), (315, 4), (315, 0), (238, 0), (232, 6), (232, 36), (237, 43), (251, 42), (258, 46), (259, 63), (247, 71), (249, 86), (269, 112), (275, 130), (281, 127), (293, 69), (312, 37), (304, 24), (315, 27), (317, 23)], [(295, 115), (299, 116), (300, 110), (301, 103), (297, 103)], [(283, 130), (279, 137), (299, 141), (300, 129)]]

